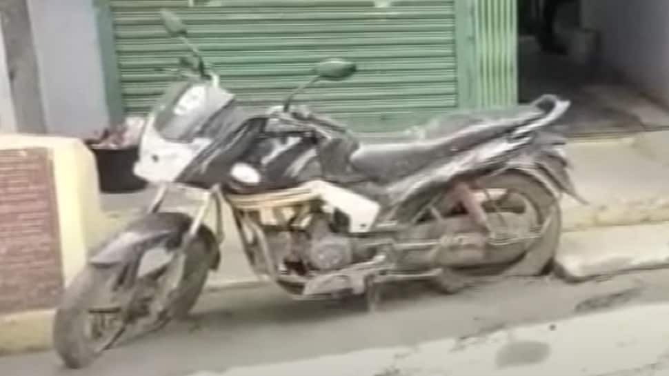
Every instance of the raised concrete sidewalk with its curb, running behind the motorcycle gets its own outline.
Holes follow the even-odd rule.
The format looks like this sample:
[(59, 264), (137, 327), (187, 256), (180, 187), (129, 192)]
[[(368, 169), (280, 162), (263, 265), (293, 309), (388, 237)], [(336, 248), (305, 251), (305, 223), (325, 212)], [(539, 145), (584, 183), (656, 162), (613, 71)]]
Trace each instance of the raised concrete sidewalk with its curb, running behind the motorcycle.
[[(582, 205), (571, 197), (563, 199), (565, 234), (558, 261), (568, 278), (580, 280), (668, 262), (669, 248), (665, 249), (665, 245), (669, 239), (651, 236), (663, 234), (661, 224), (669, 221), (668, 146), (669, 132), (600, 141), (577, 140), (568, 145), (572, 178), (590, 203)], [(121, 223), (137, 215), (151, 197), (151, 191), (104, 195), (103, 208)], [(168, 206), (194, 211), (187, 199), (177, 198)], [(210, 287), (258, 282), (242, 253), (232, 221), (225, 222), (228, 241), (223, 248), (223, 263), (221, 270), (210, 278)], [(651, 224), (655, 226), (647, 227)], [(618, 226), (641, 227), (623, 230)], [(645, 246), (628, 237), (628, 233), (637, 232), (651, 234), (643, 237)]]

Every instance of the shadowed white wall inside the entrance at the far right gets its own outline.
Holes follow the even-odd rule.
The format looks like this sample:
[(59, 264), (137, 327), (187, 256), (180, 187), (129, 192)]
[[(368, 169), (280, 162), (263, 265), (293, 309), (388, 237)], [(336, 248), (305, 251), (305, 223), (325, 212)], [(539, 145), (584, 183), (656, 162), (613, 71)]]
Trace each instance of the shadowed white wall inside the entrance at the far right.
[(601, 32), (602, 63), (669, 105), (669, 1), (581, 3), (583, 26)]

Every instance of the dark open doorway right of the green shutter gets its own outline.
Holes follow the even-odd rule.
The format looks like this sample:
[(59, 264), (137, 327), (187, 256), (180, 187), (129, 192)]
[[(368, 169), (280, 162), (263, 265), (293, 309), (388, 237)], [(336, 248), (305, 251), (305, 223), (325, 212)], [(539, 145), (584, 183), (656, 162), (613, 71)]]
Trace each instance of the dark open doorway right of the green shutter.
[[(521, 103), (544, 93), (570, 99), (572, 107), (559, 126), (571, 137), (627, 135), (669, 126), (667, 108), (601, 59), (597, 30), (581, 27), (582, 0), (518, 1)], [(551, 6), (552, 40), (546, 41)]]

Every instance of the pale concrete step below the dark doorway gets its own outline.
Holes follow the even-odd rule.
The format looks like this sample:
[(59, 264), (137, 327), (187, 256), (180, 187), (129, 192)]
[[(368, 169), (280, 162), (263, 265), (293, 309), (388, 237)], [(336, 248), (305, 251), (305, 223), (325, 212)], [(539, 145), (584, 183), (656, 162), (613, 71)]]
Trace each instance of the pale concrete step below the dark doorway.
[[(655, 135), (655, 136), (651, 136)], [(568, 146), (577, 190), (588, 205), (566, 197), (562, 203), (566, 231), (669, 221), (669, 164), (655, 156), (657, 145), (644, 137), (576, 142)]]

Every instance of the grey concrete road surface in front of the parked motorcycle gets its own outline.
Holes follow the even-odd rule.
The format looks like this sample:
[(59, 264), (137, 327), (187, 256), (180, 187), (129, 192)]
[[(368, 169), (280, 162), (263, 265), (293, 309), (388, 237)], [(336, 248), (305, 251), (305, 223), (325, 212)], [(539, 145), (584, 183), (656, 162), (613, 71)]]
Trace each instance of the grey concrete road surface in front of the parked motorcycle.
[[(654, 304), (668, 297), (669, 270), (577, 285), (506, 281), (450, 297), (401, 286), (376, 313), (361, 301), (299, 302), (272, 286), (239, 288), (206, 296), (192, 319), (86, 370), (37, 353), (1, 357), (0, 375), (669, 375), (669, 304)], [(509, 333), (526, 340), (504, 350), (498, 342)]]

